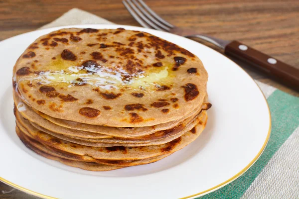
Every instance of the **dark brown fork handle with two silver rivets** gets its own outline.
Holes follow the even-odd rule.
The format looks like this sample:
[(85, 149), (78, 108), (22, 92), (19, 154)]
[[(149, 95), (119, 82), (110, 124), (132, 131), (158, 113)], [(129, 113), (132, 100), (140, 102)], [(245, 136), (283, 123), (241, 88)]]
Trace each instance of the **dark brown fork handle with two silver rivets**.
[(299, 69), (272, 58), (239, 41), (232, 41), (225, 47), (225, 54), (249, 63), (266, 72), (281, 83), (299, 91)]

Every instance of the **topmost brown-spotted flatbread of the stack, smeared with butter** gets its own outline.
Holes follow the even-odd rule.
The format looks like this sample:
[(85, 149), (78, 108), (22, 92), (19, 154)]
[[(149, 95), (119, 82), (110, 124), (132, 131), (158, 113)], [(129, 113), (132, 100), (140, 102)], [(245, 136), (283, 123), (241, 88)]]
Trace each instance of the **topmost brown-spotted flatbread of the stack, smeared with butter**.
[(35, 40), (13, 85), (55, 118), (114, 127), (178, 120), (203, 103), (207, 73), (189, 51), (146, 32), (68, 28)]

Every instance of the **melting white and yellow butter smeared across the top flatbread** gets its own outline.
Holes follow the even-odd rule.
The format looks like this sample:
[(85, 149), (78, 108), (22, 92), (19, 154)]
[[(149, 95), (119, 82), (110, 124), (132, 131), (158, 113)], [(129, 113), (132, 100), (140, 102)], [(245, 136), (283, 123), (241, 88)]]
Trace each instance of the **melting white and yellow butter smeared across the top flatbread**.
[[(119, 89), (122, 87), (131, 87), (137, 89), (154, 88), (159, 85), (172, 84), (174, 73), (169, 64), (163, 67), (151, 67), (146, 72), (131, 75), (121, 68), (105, 68), (73, 66), (73, 63), (62, 59), (53, 60), (49, 64), (49, 71), (41, 73), (35, 80), (46, 85), (56, 85), (61, 87), (71, 87), (78, 82), (78, 78), (85, 84), (94, 85), (103, 89)], [(51, 70), (52, 69), (52, 70)], [(126, 78), (127, 76), (129, 78)]]

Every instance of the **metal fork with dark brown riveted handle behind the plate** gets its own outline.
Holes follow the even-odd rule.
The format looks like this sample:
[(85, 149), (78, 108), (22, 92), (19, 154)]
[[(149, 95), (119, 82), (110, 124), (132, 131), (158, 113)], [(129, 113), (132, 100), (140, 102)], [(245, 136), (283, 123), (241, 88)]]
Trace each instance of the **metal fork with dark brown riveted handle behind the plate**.
[(224, 53), (247, 62), (253, 67), (265, 72), (283, 84), (299, 91), (299, 69), (278, 59), (266, 55), (239, 41), (228, 41), (205, 34), (198, 34), (192, 29), (180, 28), (162, 19), (143, 0), (123, 0), (130, 14), (146, 28), (165, 31), (187, 38), (200, 38), (222, 49)]

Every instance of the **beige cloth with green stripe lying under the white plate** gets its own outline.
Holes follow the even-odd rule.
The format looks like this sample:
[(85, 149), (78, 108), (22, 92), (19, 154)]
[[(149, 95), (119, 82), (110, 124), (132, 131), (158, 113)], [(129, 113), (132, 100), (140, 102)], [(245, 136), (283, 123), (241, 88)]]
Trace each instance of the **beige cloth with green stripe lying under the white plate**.
[[(84, 23), (112, 24), (74, 8), (42, 28)], [(199, 199), (299, 199), (299, 98), (257, 84), (267, 98), (272, 117), (265, 151), (237, 180)]]

